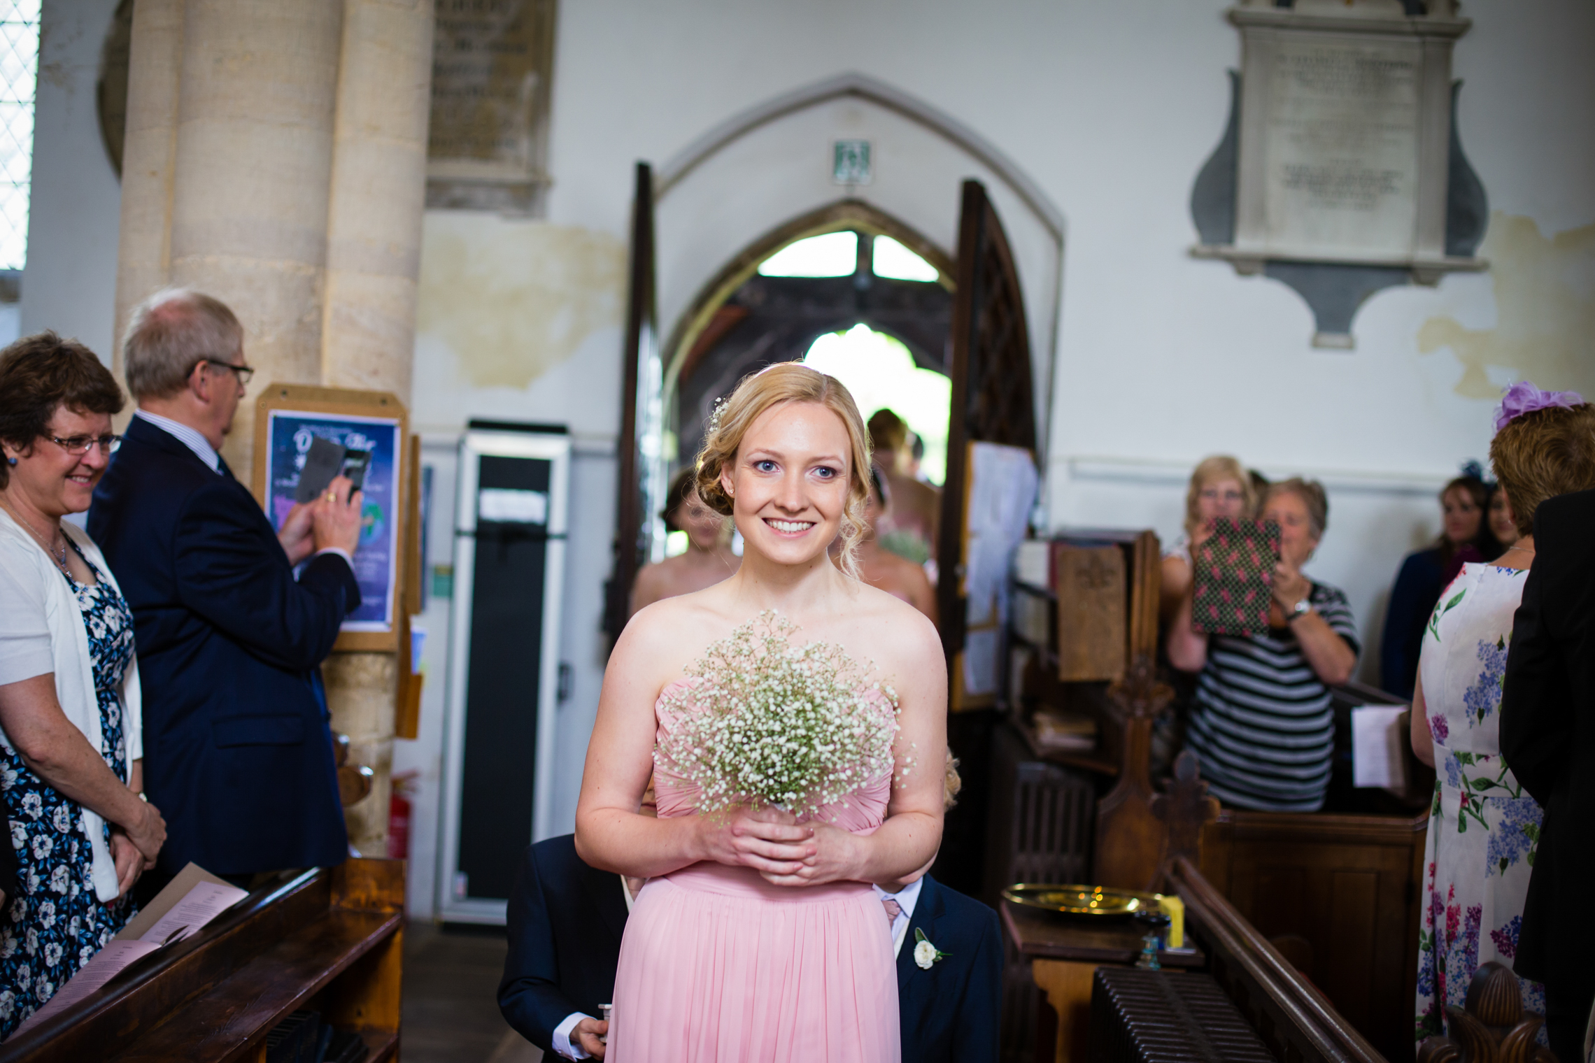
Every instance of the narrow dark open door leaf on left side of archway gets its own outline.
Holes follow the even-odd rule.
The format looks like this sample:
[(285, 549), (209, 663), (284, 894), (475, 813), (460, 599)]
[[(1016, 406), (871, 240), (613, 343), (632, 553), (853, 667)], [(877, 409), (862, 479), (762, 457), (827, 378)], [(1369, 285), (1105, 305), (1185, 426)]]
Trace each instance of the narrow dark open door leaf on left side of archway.
[(632, 268), (622, 347), (620, 435), (616, 440), (614, 567), (605, 586), (605, 633), (620, 637), (632, 583), (652, 551), (652, 516), (664, 491), (657, 480), (660, 381), (654, 328), (654, 174), (636, 164), (632, 201)]

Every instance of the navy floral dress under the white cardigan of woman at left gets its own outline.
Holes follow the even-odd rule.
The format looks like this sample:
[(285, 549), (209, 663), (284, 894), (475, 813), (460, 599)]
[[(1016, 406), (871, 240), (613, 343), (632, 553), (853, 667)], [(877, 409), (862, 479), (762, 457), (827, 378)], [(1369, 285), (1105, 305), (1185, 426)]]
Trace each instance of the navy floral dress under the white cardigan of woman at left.
[[(72, 583), (83, 626), (88, 628), (100, 709), (100, 755), (126, 783), (121, 677), (132, 660), (132, 612), (97, 569), (94, 577), (96, 583), (88, 586), (62, 574)], [(18, 896), (0, 918), (3, 1039), (116, 936), (132, 916), (134, 905), (131, 897), (110, 905), (99, 902), (89, 880), (93, 856), (83, 834), (83, 806), (56, 792), (33, 775), (14, 749), (3, 744), (0, 789), (19, 869)], [(110, 826), (104, 829), (108, 841)]]

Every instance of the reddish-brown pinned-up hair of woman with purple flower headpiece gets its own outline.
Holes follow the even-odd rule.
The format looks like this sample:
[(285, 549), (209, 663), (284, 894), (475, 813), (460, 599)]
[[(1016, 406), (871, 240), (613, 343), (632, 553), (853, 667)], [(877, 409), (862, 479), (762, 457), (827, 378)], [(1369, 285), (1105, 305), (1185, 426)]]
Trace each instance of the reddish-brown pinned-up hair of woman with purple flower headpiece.
[(1518, 534), (1533, 535), (1541, 502), (1595, 488), (1595, 406), (1547, 406), (1512, 418), (1490, 440), (1490, 464)]

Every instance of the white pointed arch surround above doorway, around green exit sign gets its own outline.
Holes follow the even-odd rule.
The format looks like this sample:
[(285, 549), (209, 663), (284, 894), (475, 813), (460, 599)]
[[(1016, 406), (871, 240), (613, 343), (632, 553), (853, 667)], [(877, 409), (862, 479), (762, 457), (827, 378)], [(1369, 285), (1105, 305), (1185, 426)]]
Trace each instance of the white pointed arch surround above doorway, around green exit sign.
[[(844, 137), (874, 143), (869, 183), (831, 180), (833, 139)], [(914, 247), (951, 280), (965, 178), (986, 185), (1010, 231), (1034, 339), (1037, 421), (1048, 426), (1062, 214), (976, 131), (861, 73), (828, 78), (732, 115), (659, 167), (657, 306), (660, 335), (668, 338), (660, 351), (667, 373), (718, 298), (735, 290), (738, 277), (764, 255), (802, 236), (839, 228), (887, 234)], [(1045, 454), (1045, 438), (1038, 443)]]

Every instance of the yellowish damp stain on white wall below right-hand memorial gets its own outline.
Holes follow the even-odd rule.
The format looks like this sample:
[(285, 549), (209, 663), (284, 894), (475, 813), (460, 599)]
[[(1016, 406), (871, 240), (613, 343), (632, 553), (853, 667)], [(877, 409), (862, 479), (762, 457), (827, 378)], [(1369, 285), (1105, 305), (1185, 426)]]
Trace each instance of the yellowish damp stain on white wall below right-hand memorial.
[(1595, 395), (1595, 225), (1547, 237), (1533, 218), (1495, 212), (1480, 255), (1490, 260), (1495, 328), (1431, 317), (1418, 351), (1448, 347), (1463, 363), (1455, 390), (1467, 398), (1501, 394), (1487, 367)]

